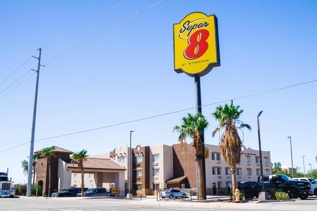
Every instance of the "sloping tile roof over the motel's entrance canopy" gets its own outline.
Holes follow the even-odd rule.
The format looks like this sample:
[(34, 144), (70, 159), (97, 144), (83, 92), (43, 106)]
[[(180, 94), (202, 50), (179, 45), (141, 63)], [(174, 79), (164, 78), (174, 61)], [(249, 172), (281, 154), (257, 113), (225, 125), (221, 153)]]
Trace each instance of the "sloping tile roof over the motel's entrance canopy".
[[(72, 164), (71, 160), (66, 162), (66, 168), (77, 168), (77, 164)], [(103, 170), (126, 170), (125, 167), (113, 159), (87, 158), (84, 163), (85, 169), (103, 169)]]

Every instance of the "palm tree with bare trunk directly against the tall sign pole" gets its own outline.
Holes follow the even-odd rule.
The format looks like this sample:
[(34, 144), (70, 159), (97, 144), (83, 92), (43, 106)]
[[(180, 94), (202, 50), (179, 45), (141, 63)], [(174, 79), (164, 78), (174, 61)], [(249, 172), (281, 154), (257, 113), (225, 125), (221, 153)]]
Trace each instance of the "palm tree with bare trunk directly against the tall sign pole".
[(179, 134), (178, 141), (180, 142), (181, 150), (184, 147), (186, 138), (191, 138), (193, 147), (195, 148), (196, 161), (198, 162), (198, 181), (199, 181), (199, 196), (198, 200), (205, 200), (205, 185), (204, 185), (204, 174), (203, 174), (203, 146), (204, 143), (201, 141), (200, 136), (204, 133), (204, 130), (208, 127), (209, 123), (200, 112), (192, 116), (187, 114), (182, 118), (182, 125), (175, 126), (173, 132), (177, 131)]

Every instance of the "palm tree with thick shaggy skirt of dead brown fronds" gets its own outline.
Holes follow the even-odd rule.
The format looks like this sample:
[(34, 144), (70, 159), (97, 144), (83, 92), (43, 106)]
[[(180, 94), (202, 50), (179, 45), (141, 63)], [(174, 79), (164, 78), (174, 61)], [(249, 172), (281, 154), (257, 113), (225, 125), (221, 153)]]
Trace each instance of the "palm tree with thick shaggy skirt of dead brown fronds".
[[(238, 130), (246, 127), (251, 130), (251, 126), (244, 124), (239, 120), (243, 110), (240, 106), (231, 104), (217, 106), (215, 112), (211, 115), (219, 122), (218, 127), (212, 132), (212, 137), (220, 131), (219, 151), (224, 162), (230, 165), (232, 175), (232, 191), (236, 189), (236, 164), (240, 163), (242, 141), (239, 137)], [(243, 133), (243, 132), (242, 132)], [(235, 197), (233, 197), (235, 202)]]

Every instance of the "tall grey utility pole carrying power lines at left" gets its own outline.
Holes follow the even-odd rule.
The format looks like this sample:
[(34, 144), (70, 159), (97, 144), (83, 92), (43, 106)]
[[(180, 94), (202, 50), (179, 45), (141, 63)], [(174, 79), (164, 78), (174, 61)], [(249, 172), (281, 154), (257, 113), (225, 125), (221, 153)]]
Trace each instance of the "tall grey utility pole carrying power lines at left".
[(31, 196), (31, 185), (32, 185), (32, 163), (33, 163), (33, 150), (34, 150), (34, 133), (35, 133), (35, 118), (36, 118), (36, 103), (37, 103), (37, 89), (39, 85), (39, 74), (41, 65), (41, 48), (38, 49), (38, 57), (33, 56), (37, 59), (37, 69), (36, 71), (36, 81), (35, 81), (35, 94), (34, 94), (34, 105), (33, 105), (33, 120), (32, 120), (32, 131), (31, 131), (31, 146), (30, 146), (30, 156), (29, 156), (29, 172), (28, 172), (28, 186), (26, 189), (26, 196)]

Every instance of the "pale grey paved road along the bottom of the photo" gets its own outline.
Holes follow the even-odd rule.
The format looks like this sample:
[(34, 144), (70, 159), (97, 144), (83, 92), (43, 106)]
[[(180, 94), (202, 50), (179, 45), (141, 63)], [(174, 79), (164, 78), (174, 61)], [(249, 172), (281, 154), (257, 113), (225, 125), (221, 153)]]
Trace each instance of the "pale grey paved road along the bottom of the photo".
[(228, 202), (156, 202), (154, 198), (148, 199), (74, 199), (74, 198), (0, 198), (1, 210), (317, 210), (317, 198), (308, 200), (278, 203), (241, 203)]

